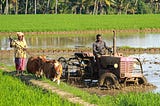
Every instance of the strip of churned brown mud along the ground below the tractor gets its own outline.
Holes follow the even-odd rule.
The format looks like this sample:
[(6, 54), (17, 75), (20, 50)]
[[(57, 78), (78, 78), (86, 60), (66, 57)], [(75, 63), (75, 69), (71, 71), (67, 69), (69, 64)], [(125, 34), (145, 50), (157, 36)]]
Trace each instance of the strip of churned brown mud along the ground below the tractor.
[(96, 94), (99, 96), (115, 96), (118, 94), (126, 94), (126, 93), (139, 93), (139, 92), (152, 92), (154, 89), (157, 87), (151, 83), (145, 84), (145, 85), (129, 85), (125, 87), (121, 87), (120, 89), (105, 89), (105, 88), (100, 88), (98, 86), (95, 87), (84, 87), (81, 85), (77, 84), (72, 84), (72, 86), (78, 87), (79, 89), (82, 89), (84, 91), (89, 92), (90, 94)]

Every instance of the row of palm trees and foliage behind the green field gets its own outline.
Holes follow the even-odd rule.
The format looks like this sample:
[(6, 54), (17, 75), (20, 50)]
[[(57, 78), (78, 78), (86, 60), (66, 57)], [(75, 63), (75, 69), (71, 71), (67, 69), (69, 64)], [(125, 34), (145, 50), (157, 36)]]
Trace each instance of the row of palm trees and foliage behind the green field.
[(158, 3), (158, 0), (1, 0), (0, 14), (148, 14), (160, 12)]

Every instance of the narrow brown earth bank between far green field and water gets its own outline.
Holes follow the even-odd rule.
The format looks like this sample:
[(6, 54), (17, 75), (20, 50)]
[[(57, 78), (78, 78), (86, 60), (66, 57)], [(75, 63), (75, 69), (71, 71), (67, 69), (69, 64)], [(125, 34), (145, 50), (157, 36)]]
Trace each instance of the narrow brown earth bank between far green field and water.
[[(111, 34), (113, 31), (117, 33), (156, 33), (160, 32), (160, 28), (145, 28), (145, 29), (106, 29), (106, 30), (76, 30), (76, 31), (32, 31), (24, 32), (25, 35), (65, 35), (65, 34)], [(16, 32), (0, 32), (0, 35), (15, 35)]]

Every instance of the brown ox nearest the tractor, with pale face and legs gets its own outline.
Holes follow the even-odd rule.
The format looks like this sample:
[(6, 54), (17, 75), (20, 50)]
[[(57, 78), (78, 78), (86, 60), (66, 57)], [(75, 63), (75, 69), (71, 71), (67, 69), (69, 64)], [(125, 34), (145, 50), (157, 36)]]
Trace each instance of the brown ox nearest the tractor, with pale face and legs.
[(46, 78), (57, 81), (58, 85), (60, 84), (60, 77), (62, 76), (61, 63), (59, 63), (57, 60), (46, 61), (42, 70)]

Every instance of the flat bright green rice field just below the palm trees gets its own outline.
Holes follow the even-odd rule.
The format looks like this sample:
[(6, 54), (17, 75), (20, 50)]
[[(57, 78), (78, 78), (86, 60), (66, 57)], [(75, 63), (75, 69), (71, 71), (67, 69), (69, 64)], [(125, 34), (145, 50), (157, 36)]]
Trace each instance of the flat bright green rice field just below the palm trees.
[(1, 15), (0, 32), (160, 29), (160, 15)]

